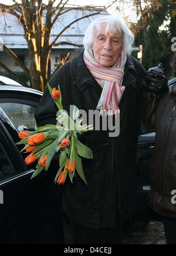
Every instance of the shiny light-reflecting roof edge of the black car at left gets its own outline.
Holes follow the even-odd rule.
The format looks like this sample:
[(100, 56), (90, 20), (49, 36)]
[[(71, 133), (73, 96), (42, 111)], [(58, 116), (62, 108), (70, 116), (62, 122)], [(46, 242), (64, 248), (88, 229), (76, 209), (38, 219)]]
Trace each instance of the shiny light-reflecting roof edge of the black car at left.
[(39, 90), (31, 89), (28, 87), (23, 86), (12, 86), (12, 85), (1, 85), (0, 86), (0, 92), (1, 91), (11, 91), (11, 92), (26, 92), (26, 93), (34, 93), (36, 95), (42, 96), (43, 93)]

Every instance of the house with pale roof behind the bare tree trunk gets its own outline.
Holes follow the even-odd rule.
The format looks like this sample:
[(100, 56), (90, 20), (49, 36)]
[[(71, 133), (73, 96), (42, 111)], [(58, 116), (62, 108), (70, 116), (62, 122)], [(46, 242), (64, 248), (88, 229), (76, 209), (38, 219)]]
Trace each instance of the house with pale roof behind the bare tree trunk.
[[(80, 16), (85, 16), (90, 14), (93, 11), (82, 11), (79, 9), (75, 9), (69, 12), (66, 12), (62, 16), (57, 19), (55, 26), (52, 30), (51, 42), (56, 38), (60, 31), (65, 28), (70, 22), (74, 21), (76, 18)], [(102, 14), (101, 14), (102, 15)], [(107, 12), (104, 12), (103, 15), (107, 15)], [(99, 15), (100, 16), (100, 15)], [(74, 23), (69, 29), (65, 31), (65, 33), (59, 38), (57, 42), (71, 42), (76, 43), (78, 45), (83, 43), (84, 33), (86, 31), (87, 26), (89, 26), (90, 22), (93, 19), (97, 18), (98, 15), (90, 16), (89, 18), (82, 19), (77, 23)], [(4, 63), (10, 70), (15, 72), (22, 71), (18, 66), (18, 63), (15, 62), (11, 58), (11, 56), (7, 55), (3, 51), (3, 43), (13, 51), (15, 51), (16, 55), (25, 63), (25, 65), (29, 68), (30, 65), (30, 56), (28, 51), (28, 43), (24, 38), (24, 30), (22, 24), (19, 22), (16, 16), (11, 14), (1, 14), (0, 16), (0, 61)], [(55, 46), (52, 49), (52, 53), (50, 55), (50, 73), (53, 73), (56, 69), (57, 65), (60, 63), (60, 60), (70, 52), (70, 59), (73, 59), (77, 53), (80, 51), (80, 48), (72, 45), (59, 45)], [(2, 68), (0, 66), (0, 73), (2, 72)]]

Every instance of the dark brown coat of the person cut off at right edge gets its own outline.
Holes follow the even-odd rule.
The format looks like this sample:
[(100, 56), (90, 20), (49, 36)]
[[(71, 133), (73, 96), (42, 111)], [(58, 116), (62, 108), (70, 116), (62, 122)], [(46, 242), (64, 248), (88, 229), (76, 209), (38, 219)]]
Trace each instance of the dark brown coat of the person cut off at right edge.
[(161, 100), (154, 93), (147, 93), (143, 113), (147, 129), (156, 132), (148, 204), (157, 213), (176, 218), (176, 204), (171, 202), (172, 191), (176, 190), (175, 102), (168, 93)]

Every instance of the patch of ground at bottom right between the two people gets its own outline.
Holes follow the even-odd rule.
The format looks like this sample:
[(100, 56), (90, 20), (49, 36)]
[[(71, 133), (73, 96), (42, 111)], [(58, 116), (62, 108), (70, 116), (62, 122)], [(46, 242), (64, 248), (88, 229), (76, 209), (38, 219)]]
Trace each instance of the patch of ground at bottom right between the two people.
[(163, 223), (150, 222), (125, 231), (123, 244), (166, 244)]

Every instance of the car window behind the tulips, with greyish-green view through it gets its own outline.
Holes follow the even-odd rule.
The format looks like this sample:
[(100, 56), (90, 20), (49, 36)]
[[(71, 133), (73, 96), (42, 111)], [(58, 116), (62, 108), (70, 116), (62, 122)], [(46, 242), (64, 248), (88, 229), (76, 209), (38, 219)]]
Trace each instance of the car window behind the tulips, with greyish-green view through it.
[(16, 129), (19, 126), (25, 126), (28, 130), (35, 127), (35, 107), (21, 103), (0, 103), (0, 107), (4, 110)]

